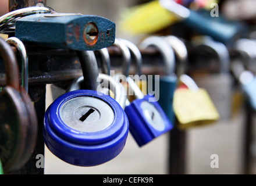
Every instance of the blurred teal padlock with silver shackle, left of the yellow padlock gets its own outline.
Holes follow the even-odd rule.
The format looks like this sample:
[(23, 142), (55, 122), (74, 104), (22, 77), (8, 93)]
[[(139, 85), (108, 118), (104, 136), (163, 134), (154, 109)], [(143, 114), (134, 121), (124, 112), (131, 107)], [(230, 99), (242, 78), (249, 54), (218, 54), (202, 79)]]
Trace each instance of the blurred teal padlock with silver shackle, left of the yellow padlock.
[[(177, 76), (175, 74), (175, 53), (162, 37), (148, 37), (140, 43), (139, 48), (145, 49), (155, 47), (161, 53), (163, 65), (165, 66), (163, 74), (155, 76), (152, 81), (148, 78), (148, 92), (154, 90), (155, 98), (165, 112), (171, 123), (175, 123), (175, 115), (173, 113), (173, 92), (176, 89)], [(151, 84), (152, 82), (152, 84)]]

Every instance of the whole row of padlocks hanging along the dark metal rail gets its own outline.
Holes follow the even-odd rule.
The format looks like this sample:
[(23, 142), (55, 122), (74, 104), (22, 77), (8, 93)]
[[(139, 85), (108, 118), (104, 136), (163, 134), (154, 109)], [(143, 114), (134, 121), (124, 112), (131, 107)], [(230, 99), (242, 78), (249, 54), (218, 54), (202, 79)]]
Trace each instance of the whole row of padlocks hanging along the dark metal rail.
[[(59, 159), (75, 166), (97, 166), (122, 152), (129, 131), (142, 147), (174, 127), (187, 130), (230, 119), (235, 86), (242, 92), (236, 102), (246, 96), (256, 109), (255, 76), (244, 58), (247, 47), (256, 45), (254, 40), (236, 40), (232, 51), (239, 57), (231, 59), (227, 47), (209, 36), (187, 44), (175, 35), (153, 35), (136, 46), (116, 38), (115, 29), (115, 23), (104, 17), (57, 13), (38, 6), (0, 17), (1, 33), (13, 36), (0, 38), (6, 77), (6, 86), (0, 87), (0, 173), (19, 170), (28, 162), (38, 130)], [(47, 108), (42, 128), (28, 94), (31, 64), (26, 45), (74, 50), (83, 72)], [(111, 71), (108, 47), (121, 52), (121, 72)], [(142, 73), (140, 51), (149, 48), (161, 56), (159, 74)], [(189, 71), (188, 49), (197, 55), (214, 53), (218, 59), (213, 72)], [(101, 73), (96, 51), (101, 56)], [(134, 74), (130, 74), (132, 60)]]

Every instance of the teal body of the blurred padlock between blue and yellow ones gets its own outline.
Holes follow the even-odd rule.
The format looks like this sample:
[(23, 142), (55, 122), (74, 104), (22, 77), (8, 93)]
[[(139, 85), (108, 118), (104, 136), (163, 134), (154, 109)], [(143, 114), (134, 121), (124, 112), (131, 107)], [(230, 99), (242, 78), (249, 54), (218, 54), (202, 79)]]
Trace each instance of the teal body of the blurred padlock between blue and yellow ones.
[[(153, 85), (155, 85), (155, 79)], [(155, 94), (159, 94), (158, 103), (165, 112), (171, 123), (175, 123), (175, 115), (173, 113), (173, 92), (177, 84), (176, 76), (162, 76), (159, 78), (159, 90)]]

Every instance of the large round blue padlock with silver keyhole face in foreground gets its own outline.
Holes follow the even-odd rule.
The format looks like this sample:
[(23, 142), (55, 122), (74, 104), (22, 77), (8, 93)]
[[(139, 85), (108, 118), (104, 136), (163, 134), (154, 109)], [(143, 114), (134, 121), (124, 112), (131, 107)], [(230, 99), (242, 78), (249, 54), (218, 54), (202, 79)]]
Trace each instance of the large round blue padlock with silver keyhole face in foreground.
[[(84, 76), (93, 68), (83, 70)], [(128, 130), (127, 116), (115, 99), (93, 90), (76, 90), (61, 95), (49, 106), (43, 137), (49, 150), (63, 161), (96, 166), (123, 150)]]

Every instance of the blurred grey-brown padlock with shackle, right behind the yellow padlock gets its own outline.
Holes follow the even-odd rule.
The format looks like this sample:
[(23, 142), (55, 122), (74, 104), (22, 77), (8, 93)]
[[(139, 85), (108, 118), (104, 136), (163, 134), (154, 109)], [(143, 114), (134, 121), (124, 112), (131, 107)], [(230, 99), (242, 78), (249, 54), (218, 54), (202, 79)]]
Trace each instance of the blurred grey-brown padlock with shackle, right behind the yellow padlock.
[(219, 59), (219, 71), (216, 73), (194, 73), (191, 77), (199, 87), (205, 88), (220, 114), (221, 120), (229, 120), (232, 108), (233, 78), (229, 73), (230, 56), (226, 46), (210, 37), (199, 37), (194, 41), (198, 51), (215, 52)]

